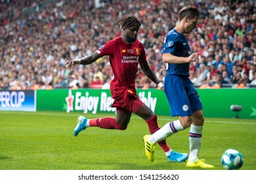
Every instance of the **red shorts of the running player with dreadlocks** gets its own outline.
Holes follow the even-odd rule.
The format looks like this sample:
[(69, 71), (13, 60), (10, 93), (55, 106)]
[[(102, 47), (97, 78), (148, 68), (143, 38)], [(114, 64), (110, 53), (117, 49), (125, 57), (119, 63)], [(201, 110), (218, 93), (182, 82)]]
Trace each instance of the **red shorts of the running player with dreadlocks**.
[(144, 104), (142, 101), (140, 101), (137, 92), (133, 89), (125, 89), (112, 92), (112, 98), (114, 99), (112, 107), (116, 107), (117, 109), (121, 110), (125, 109), (135, 114)]

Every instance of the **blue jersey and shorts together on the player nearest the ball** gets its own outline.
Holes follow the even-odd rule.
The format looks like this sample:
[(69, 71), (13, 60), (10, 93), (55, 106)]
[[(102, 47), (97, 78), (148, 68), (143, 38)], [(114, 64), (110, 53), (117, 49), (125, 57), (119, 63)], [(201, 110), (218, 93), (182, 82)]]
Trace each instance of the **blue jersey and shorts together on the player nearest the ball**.
[[(163, 42), (163, 53), (177, 57), (188, 57), (191, 54), (186, 37), (175, 29), (169, 31)], [(202, 109), (198, 92), (189, 76), (190, 63), (167, 63), (165, 76), (165, 95), (171, 107), (171, 116), (191, 116)]]

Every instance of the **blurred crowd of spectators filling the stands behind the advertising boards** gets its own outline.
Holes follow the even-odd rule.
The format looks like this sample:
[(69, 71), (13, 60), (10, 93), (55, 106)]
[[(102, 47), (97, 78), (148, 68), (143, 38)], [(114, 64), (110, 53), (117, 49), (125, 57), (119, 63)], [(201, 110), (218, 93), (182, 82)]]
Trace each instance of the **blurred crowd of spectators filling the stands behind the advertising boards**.
[[(0, 90), (108, 89), (113, 77), (108, 57), (85, 66), (64, 63), (121, 35), (115, 23), (124, 15), (142, 22), (137, 38), (163, 81), (163, 39), (188, 4), (202, 11), (198, 27), (187, 35), (192, 52), (200, 52), (190, 64), (194, 86), (255, 86), (256, 1), (0, 0)], [(140, 69), (135, 83), (137, 88), (156, 88)]]

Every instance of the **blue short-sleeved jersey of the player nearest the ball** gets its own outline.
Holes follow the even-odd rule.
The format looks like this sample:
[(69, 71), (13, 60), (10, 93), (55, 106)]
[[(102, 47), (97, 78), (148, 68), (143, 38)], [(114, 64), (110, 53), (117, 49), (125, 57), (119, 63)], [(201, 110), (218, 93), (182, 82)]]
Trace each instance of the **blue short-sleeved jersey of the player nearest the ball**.
[[(171, 29), (163, 41), (163, 53), (170, 53), (173, 56), (178, 57), (188, 57), (191, 54), (191, 50), (188, 41), (186, 41), (186, 37), (181, 33), (178, 33), (175, 29)], [(190, 63), (167, 63), (166, 75), (180, 75), (188, 77), (189, 65)]]

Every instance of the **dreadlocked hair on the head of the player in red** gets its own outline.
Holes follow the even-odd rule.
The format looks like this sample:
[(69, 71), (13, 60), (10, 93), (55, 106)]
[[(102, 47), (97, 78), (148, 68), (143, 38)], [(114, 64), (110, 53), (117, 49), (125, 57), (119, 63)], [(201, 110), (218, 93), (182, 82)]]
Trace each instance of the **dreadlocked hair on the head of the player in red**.
[(138, 24), (139, 27), (141, 25), (140, 20), (136, 16), (122, 16), (116, 21), (117, 27), (122, 30), (133, 27), (135, 24)]

